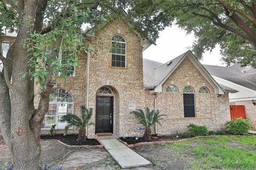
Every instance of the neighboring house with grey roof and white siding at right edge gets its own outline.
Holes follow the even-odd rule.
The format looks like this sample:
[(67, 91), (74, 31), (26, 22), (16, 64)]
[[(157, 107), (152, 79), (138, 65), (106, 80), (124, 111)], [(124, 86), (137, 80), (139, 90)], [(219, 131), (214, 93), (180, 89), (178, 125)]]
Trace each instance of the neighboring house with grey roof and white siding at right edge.
[(241, 67), (240, 64), (204, 67), (218, 83), (239, 91), (229, 94), (230, 105), (244, 105), (246, 118), (250, 120), (252, 128), (256, 128), (256, 70)]

